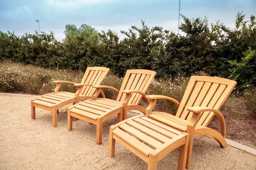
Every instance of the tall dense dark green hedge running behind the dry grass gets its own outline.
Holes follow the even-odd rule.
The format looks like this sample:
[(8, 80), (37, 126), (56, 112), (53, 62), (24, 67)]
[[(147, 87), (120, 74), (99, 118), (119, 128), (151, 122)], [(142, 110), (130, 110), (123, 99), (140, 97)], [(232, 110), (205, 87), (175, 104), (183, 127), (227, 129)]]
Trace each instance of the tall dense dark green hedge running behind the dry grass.
[(256, 21), (244, 21), (238, 13), (236, 27), (211, 24), (207, 18), (189, 19), (183, 16), (175, 34), (162, 27), (132, 26), (121, 31), (119, 40), (109, 30), (98, 33), (94, 28), (67, 25), (63, 41), (54, 34), (35, 32), (17, 36), (0, 31), (0, 59), (40, 65), (85, 70), (88, 66), (105, 66), (113, 74), (123, 76), (127, 69), (150, 69), (159, 78), (177, 74), (190, 76), (204, 71), (211, 76), (236, 79), (239, 85), (256, 85)]

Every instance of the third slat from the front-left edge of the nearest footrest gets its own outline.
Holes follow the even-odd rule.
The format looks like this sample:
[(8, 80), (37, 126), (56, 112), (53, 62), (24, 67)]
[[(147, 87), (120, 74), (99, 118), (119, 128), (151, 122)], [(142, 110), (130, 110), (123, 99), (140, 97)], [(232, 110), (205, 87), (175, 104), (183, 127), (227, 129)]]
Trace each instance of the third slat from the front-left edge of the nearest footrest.
[(156, 139), (157, 141), (159, 141), (161, 143), (165, 143), (165, 142), (169, 141), (169, 138), (167, 138), (166, 136), (163, 136), (160, 133), (155, 132), (154, 130), (151, 130), (143, 125), (140, 125), (139, 123), (134, 122), (133, 120), (130, 120), (126, 123), (128, 125), (130, 125), (131, 127), (134, 127), (135, 129), (140, 130), (142, 133), (145, 133), (146, 135), (150, 136), (151, 138)]

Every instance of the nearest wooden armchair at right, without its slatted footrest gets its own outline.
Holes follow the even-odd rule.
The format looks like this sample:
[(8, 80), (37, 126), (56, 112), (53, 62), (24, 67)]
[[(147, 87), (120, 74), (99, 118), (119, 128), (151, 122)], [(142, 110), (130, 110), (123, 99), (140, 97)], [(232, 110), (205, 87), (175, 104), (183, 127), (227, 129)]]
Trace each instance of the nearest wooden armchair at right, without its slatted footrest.
[[(193, 139), (196, 136), (212, 136), (221, 147), (226, 147), (226, 125), (222, 113), (219, 110), (227, 99), (236, 82), (230, 79), (218, 77), (192, 76), (186, 88), (183, 99), (177, 100), (160, 95), (148, 95), (151, 99), (146, 108), (146, 117), (173, 127), (181, 132), (189, 133), (188, 154), (186, 168), (189, 169)], [(152, 112), (157, 99), (168, 99), (175, 103), (178, 110), (175, 116), (164, 112)], [(221, 133), (209, 127), (211, 120), (216, 117), (221, 125)]]

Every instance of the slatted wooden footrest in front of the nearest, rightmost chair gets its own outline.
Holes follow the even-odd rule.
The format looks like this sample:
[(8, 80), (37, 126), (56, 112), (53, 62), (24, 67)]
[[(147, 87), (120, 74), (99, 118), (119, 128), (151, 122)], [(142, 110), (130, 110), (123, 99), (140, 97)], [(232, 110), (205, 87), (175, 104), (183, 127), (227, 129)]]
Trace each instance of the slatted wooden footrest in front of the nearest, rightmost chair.
[(115, 155), (115, 141), (127, 147), (156, 170), (157, 162), (180, 147), (178, 170), (185, 170), (189, 134), (180, 132), (143, 115), (112, 125), (109, 132), (109, 156)]

